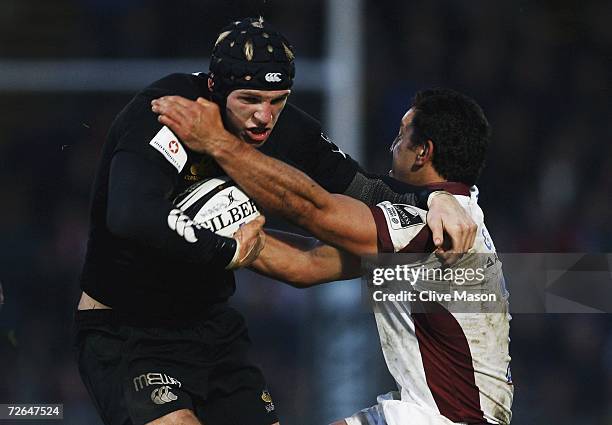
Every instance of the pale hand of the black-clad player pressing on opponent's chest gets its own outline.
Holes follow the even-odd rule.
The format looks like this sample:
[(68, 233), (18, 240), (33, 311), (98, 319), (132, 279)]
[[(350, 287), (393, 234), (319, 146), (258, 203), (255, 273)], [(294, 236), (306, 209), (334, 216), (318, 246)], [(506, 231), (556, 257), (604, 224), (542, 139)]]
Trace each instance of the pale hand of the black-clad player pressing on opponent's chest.
[(433, 198), (427, 214), (436, 254), (446, 264), (456, 262), (476, 240), (478, 226), (454, 196), (440, 193)]

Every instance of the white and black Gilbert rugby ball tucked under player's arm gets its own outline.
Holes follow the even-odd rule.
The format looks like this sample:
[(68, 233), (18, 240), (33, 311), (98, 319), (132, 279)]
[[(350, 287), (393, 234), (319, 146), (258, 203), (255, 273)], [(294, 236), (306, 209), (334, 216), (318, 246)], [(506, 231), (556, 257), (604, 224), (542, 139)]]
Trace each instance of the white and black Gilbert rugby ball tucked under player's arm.
[(177, 196), (174, 205), (196, 225), (227, 237), (260, 215), (255, 202), (227, 176), (190, 186)]

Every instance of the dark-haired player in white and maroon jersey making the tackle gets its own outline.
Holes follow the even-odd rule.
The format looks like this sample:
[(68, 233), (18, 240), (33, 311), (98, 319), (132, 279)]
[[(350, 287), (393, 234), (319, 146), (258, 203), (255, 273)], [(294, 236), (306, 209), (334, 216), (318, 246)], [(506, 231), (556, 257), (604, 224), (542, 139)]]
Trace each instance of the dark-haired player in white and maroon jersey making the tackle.
[[(162, 99), (155, 109), (163, 124), (213, 156), (261, 207), (323, 241), (269, 231), (253, 263), (257, 271), (308, 287), (358, 276), (359, 256), (368, 254), (428, 253), (414, 266), (440, 266), (435, 252), (441, 249), (426, 225), (426, 211), (388, 201), (368, 207), (326, 192), (297, 169), (226, 132), (214, 104), (199, 100), (182, 102), (179, 108), (173, 99)], [(474, 100), (447, 89), (420, 92), (391, 146), (390, 176), (443, 189), (463, 205), (479, 228), (472, 251), (451, 269), (482, 269), (484, 288), (498, 297), (501, 307), (458, 313), (434, 304), (432, 313), (415, 311), (412, 302), (376, 303), (383, 352), (399, 391), (380, 396), (377, 405), (336, 425), (510, 422), (508, 294), (474, 186), (489, 138), (489, 124)], [(418, 283), (425, 287), (432, 282)]]

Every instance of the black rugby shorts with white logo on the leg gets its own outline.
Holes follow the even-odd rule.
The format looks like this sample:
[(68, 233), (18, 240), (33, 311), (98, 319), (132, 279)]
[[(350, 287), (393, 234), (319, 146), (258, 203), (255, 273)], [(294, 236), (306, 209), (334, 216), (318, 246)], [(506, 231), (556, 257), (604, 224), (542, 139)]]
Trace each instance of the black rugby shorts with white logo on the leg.
[(277, 422), (250, 344), (244, 318), (225, 304), (181, 327), (128, 326), (112, 310), (76, 312), (79, 371), (106, 425), (144, 425), (179, 409), (205, 425)]

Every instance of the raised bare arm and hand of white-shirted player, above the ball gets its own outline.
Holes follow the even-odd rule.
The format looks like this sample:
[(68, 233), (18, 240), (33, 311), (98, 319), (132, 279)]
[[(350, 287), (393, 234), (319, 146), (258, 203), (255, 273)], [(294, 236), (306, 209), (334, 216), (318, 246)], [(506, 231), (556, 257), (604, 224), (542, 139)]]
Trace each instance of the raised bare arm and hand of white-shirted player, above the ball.
[[(189, 108), (194, 102), (175, 98), (156, 103), (154, 110), (162, 114), (160, 121), (190, 148), (201, 142), (198, 149), (214, 157), (261, 207), (351, 254), (377, 252), (376, 225), (367, 205), (330, 194), (298, 169), (262, 154), (227, 132), (215, 103), (198, 99), (202, 110), (194, 112)], [(185, 119), (192, 113), (197, 116)]]

